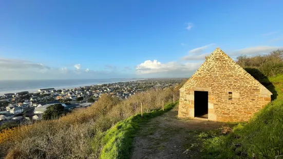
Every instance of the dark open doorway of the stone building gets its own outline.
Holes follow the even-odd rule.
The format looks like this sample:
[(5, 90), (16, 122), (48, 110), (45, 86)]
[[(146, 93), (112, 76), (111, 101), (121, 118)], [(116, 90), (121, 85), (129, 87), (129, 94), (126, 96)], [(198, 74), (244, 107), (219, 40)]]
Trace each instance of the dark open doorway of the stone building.
[(195, 91), (195, 117), (208, 118), (209, 92)]

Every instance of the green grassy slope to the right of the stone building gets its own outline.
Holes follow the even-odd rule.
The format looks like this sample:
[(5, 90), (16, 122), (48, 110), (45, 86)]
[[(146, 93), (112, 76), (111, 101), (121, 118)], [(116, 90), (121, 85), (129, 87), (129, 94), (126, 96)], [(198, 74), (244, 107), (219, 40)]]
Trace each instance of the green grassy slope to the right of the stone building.
[(269, 78), (277, 98), (227, 135), (200, 135), (203, 158), (283, 158), (283, 75)]

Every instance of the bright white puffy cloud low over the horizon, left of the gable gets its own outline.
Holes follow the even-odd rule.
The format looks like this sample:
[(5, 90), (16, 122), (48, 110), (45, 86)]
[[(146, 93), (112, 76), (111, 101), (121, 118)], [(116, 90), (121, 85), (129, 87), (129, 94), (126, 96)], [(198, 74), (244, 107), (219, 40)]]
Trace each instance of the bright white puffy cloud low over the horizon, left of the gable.
[(177, 63), (168, 62), (162, 64), (156, 59), (154, 61), (147, 60), (136, 67), (137, 74), (150, 74), (150, 73), (167, 73), (177, 74), (182, 72), (190, 72), (196, 70), (201, 63)]

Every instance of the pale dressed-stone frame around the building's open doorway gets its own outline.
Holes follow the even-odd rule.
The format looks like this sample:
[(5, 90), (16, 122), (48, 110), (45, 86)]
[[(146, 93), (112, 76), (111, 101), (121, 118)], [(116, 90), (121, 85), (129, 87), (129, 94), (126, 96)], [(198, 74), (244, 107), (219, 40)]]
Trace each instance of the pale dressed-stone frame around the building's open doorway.
[(187, 95), (187, 101), (190, 101), (191, 105), (188, 107), (189, 117), (195, 118), (195, 91), (205, 91), (209, 94), (209, 114), (208, 120), (209, 121), (216, 121), (216, 114), (214, 112), (214, 96), (212, 95), (212, 91), (210, 87), (193, 87), (192, 91)]

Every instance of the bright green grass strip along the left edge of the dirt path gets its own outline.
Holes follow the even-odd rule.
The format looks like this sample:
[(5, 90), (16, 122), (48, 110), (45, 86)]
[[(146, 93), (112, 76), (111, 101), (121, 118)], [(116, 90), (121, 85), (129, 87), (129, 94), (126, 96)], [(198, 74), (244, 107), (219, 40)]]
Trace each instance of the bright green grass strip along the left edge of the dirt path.
[(164, 111), (154, 110), (149, 113), (136, 114), (121, 122), (118, 122), (114, 127), (107, 130), (99, 138), (95, 138), (94, 150), (98, 146), (97, 141), (102, 140), (102, 151), (99, 158), (129, 158), (132, 140), (136, 132), (140, 129), (142, 124), (148, 122), (151, 118), (161, 115), (164, 112), (171, 110), (177, 103), (167, 104), (164, 106)]

